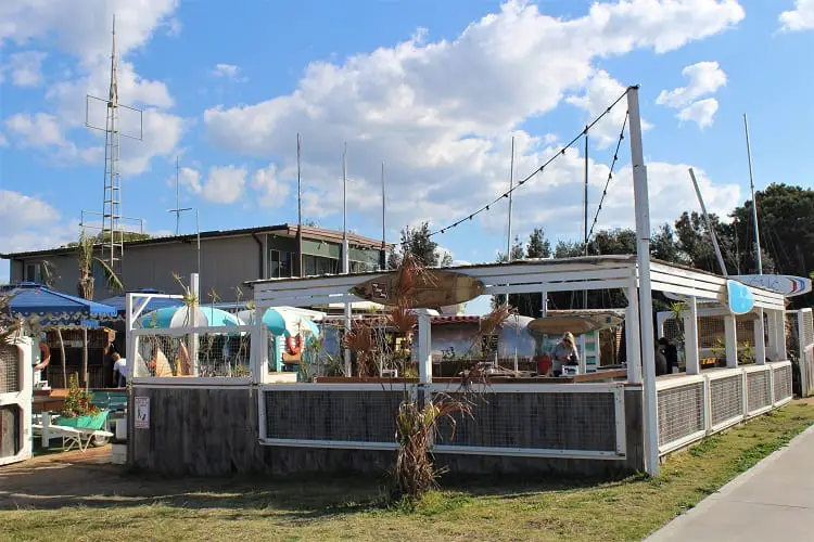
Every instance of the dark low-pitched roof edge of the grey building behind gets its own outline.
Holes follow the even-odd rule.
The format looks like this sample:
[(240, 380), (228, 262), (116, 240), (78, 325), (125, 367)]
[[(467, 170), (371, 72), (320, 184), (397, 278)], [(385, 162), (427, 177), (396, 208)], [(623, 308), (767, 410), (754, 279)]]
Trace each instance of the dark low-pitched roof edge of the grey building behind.
[[(239, 230), (215, 230), (208, 232), (201, 232), (201, 241), (219, 238), (219, 237), (236, 237), (241, 235), (256, 235), (256, 234), (272, 234), (282, 237), (296, 237), (297, 225), (296, 224), (277, 224), (277, 225), (260, 225), (256, 228), (243, 228)], [(342, 232), (336, 230), (327, 230), (325, 228), (314, 228), (309, 225), (303, 227), (303, 238), (311, 241), (328, 241), (328, 242), (342, 242)], [(133, 246), (150, 246), (160, 245), (165, 243), (194, 243), (196, 234), (186, 235), (167, 235), (163, 237), (151, 237), (138, 241), (125, 241), (125, 247)], [(365, 248), (381, 248), (381, 240), (373, 240), (370, 237), (364, 237), (355, 233), (347, 234), (348, 243), (353, 246), (360, 246)], [(392, 244), (386, 245), (387, 248), (392, 248)], [(76, 250), (74, 246), (61, 246), (56, 248), (48, 248), (43, 250), (31, 250), (24, 253), (9, 253), (0, 254), (0, 258), (5, 259), (23, 259), (38, 256), (55, 256), (61, 254), (71, 254)]]

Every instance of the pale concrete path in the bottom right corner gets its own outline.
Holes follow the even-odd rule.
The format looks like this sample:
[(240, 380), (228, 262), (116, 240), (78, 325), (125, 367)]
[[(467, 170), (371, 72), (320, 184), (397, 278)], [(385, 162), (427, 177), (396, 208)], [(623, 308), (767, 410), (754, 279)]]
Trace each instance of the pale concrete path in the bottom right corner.
[(814, 540), (814, 426), (648, 540)]

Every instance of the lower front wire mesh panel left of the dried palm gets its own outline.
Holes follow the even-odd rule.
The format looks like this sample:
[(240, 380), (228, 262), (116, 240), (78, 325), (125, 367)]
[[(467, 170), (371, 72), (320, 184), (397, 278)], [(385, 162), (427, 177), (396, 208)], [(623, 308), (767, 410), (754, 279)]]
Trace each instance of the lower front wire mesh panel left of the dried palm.
[[(266, 438), (395, 443), (405, 391), (268, 390)], [(307, 442), (303, 442), (306, 443)]]

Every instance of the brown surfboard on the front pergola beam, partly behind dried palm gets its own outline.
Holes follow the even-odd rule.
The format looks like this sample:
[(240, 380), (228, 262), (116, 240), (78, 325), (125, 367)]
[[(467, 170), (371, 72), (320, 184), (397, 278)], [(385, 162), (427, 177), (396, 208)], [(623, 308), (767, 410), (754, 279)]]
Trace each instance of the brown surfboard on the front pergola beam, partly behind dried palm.
[[(470, 301), (482, 296), (484, 284), (455, 271), (427, 269), (415, 279), (408, 305), (412, 309), (437, 309)], [(351, 294), (380, 305), (396, 305), (398, 273), (370, 279), (351, 288)]]

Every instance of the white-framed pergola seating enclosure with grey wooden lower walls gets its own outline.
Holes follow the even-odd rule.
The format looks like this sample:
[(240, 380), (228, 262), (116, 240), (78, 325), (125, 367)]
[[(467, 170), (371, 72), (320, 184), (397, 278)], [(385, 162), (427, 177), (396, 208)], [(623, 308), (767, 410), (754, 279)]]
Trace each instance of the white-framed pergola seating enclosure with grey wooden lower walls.
[[(374, 317), (346, 311), (340, 319), (339, 333), (351, 339), (333, 346), (326, 346), (325, 330), (328, 325), (333, 330), (339, 326), (326, 322), (318, 325), (319, 340), (311, 343), (309, 349), (303, 348), (309, 353), (301, 358), (301, 363), (325, 365), (319, 360), (327, 356), (338, 374), (311, 375), (300, 382), (280, 382), (279, 375), (285, 373), (276, 371), (275, 359), (269, 354), (269, 336), (274, 334), (267, 325), (137, 328), (131, 324), (139, 315), (131, 314), (127, 333), (132, 359), (137, 359), (140, 345), (156, 335), (173, 336), (178, 341), (198, 337), (201, 348), (206, 343), (201, 337), (232, 334), (247, 341), (245, 359), (250, 372), (240, 377), (212, 377), (195, 375), (192, 366), (191, 374), (178, 378), (137, 369), (133, 400), (147, 405), (141, 414), (149, 422), (141, 427), (149, 424), (150, 430), (135, 426), (128, 453), (133, 464), (167, 474), (214, 475), (231, 469), (323, 473), (340, 468), (373, 473), (389, 464), (396, 449), (396, 416), (406, 398), (474, 392), (471, 417), (458, 416), (455, 437), (442, 431), (446, 436), (433, 446), (437, 461), (451, 472), (650, 472), (660, 456), (784, 404), (791, 398), (792, 385), (783, 294), (677, 266), (651, 266), (652, 292), (686, 297), (683, 374), (654, 376), (652, 357), (658, 332), (653, 331), (649, 343), (646, 334), (639, 332), (641, 322), (649, 320), (645, 315), (649, 311), (639, 310), (643, 285), (638, 261), (626, 256), (525, 260), (438, 272), (465, 275), (484, 295), (545, 296), (585, 289), (623, 293), (627, 305), (618, 307), (612, 314), (618, 315), (619, 325), (624, 328), (624, 343), (619, 344), (624, 350), (619, 359), (624, 361), (615, 363), (618, 359), (612, 359), (608, 367), (598, 364), (588, 372), (586, 356), (581, 356), (575, 374), (559, 377), (539, 374), (534, 371), (536, 367), (516, 370), (514, 357), (496, 350), (491, 350), (488, 357), (479, 352), (473, 357), (476, 363), (469, 370), (440, 376), (438, 364), (445, 360), (433, 350), (447, 347), (434, 348), (433, 334), (447, 333), (443, 330), (449, 323), (438, 321), (454, 317), (424, 309), (405, 311), (396, 305), (382, 304), (381, 313)], [(256, 281), (251, 284), (254, 321), (262, 322), (266, 311), (275, 308), (305, 309), (330, 304), (346, 304), (349, 308), (351, 304), (367, 299), (360, 285), (372, 284), (379, 292), (397, 289), (397, 273)], [(428, 292), (421, 291), (420, 295), (429, 296)], [(720, 338), (726, 367), (701, 366), (699, 298), (712, 299), (725, 310)], [(750, 320), (753, 336), (766, 337), (765, 341), (756, 340), (754, 349), (759, 354), (750, 366), (738, 362), (734, 345), (738, 344), (736, 334), (742, 328), (738, 319), (742, 317), (736, 315), (735, 310), (756, 314)], [(492, 317), (494, 312), (478, 320), (476, 344), (489, 346), (481, 338), (499, 336), (500, 324), (510, 321), (506, 317), (496, 322)], [(558, 327), (563, 325), (562, 314), (536, 319), (538, 323), (534, 325), (546, 330), (546, 318), (551, 318), (547, 328), (558, 332), (552, 337), (556, 341), (562, 331)], [(593, 327), (588, 324), (596, 315), (573, 318), (569, 325), (575, 331), (584, 325), (590, 333)], [(588, 324), (576, 324), (581, 318)], [(364, 327), (361, 322), (366, 319), (372, 324)], [(395, 336), (389, 337), (389, 331), (394, 331)], [(535, 340), (531, 332), (529, 338)], [(577, 334), (575, 346), (581, 347), (583, 340), (586, 339)], [(545, 336), (540, 343), (545, 343)], [(187, 344), (194, 346), (195, 340)], [(409, 351), (405, 351), (405, 344)], [(653, 346), (646, 348), (646, 344)], [(511, 350), (520, 349), (517, 341), (510, 345)], [(327, 353), (329, 348), (333, 350)], [(577, 350), (586, 351), (584, 347)], [(545, 350), (530, 350), (532, 354), (540, 351)], [(500, 371), (491, 374), (496, 367)], [(170, 443), (179, 438), (187, 442), (185, 450), (189, 451), (168, 453)], [(225, 447), (224, 442), (229, 444)], [(202, 456), (206, 461), (201, 461)]]

